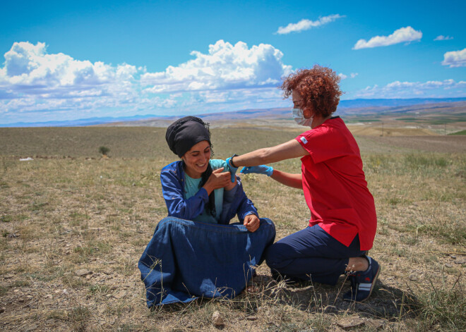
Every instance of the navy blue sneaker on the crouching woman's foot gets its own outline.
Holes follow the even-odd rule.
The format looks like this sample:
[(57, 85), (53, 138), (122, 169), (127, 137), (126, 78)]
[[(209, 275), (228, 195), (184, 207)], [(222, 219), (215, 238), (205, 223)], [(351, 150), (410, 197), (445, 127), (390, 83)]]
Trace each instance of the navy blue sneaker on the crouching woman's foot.
[(378, 273), (381, 272), (381, 267), (375, 259), (366, 256), (369, 261), (369, 268), (366, 271), (356, 271), (349, 274), (349, 281), (351, 282), (351, 290), (343, 295), (343, 300), (346, 301), (365, 301), (371, 296), (372, 290), (376, 285)]

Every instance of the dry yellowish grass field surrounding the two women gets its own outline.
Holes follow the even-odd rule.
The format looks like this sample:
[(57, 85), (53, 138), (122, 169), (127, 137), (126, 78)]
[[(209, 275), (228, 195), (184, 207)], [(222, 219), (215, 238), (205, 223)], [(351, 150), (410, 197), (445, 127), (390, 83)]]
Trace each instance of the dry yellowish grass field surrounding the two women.
[[(214, 128), (214, 157), (297, 135), (270, 128)], [(216, 331), (217, 311), (225, 331), (464, 331), (466, 136), (357, 140), (382, 268), (368, 301), (343, 302), (343, 276), (335, 287), (277, 285), (262, 264), (256, 293), (150, 311), (137, 262), (167, 215), (159, 175), (176, 156), (165, 129), (0, 128), (0, 330)], [(274, 166), (299, 172), (300, 161)], [(302, 192), (242, 179), (277, 239), (306, 227)]]

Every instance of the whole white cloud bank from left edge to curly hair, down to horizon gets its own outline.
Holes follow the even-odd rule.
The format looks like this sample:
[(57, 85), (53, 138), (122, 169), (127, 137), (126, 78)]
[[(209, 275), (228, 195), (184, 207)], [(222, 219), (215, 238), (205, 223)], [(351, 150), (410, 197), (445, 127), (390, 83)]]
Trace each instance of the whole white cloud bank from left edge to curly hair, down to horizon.
[(208, 54), (160, 73), (129, 64), (48, 54), (44, 43), (16, 42), (0, 67), (0, 123), (91, 116), (208, 113), (283, 106), (276, 86), (292, 71), (269, 44), (219, 40)]

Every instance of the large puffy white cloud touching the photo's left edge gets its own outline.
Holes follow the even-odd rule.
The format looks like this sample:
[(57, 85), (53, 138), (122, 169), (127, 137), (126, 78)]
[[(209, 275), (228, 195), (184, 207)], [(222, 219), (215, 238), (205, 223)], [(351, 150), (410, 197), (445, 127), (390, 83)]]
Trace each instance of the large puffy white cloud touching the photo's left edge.
[(0, 69), (0, 88), (44, 98), (95, 97), (124, 93), (137, 73), (134, 66), (116, 67), (78, 61), (66, 54), (47, 54), (44, 43), (15, 42)]

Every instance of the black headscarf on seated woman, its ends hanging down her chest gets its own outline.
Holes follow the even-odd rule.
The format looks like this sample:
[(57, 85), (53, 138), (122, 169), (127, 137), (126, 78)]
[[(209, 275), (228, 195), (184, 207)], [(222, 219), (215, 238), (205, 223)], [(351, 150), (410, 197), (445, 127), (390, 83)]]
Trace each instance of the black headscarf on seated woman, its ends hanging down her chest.
[[(167, 140), (168, 147), (172, 152), (177, 154), (180, 158), (181, 156), (184, 156), (191, 147), (198, 144), (198, 142), (208, 141), (210, 149), (212, 149), (212, 144), (210, 143), (209, 124), (204, 123), (204, 121), (200, 118), (196, 118), (196, 116), (185, 116), (184, 118), (179, 118), (177, 121), (169, 125), (167, 133), (165, 134), (165, 140)], [(201, 175), (199, 188), (205, 185), (212, 174), (212, 171), (212, 166), (208, 163), (207, 169)], [(209, 195), (209, 203), (206, 210), (209, 214), (215, 216), (214, 192), (211, 192)]]

